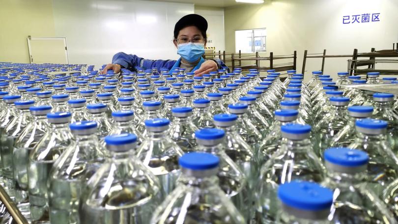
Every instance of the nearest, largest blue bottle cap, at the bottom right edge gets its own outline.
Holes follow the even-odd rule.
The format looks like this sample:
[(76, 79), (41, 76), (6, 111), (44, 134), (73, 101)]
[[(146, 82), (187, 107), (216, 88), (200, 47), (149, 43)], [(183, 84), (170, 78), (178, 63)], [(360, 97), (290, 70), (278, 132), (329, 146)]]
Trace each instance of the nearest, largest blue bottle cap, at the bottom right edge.
[(329, 209), (333, 192), (319, 184), (307, 181), (291, 181), (278, 188), (279, 199), (287, 206), (301, 210)]

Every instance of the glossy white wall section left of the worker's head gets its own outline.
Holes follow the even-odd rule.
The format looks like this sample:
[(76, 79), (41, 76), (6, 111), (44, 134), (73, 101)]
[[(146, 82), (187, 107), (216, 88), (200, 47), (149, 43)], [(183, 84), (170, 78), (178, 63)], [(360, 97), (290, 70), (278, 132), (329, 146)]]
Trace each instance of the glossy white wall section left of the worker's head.
[(175, 23), (193, 4), (148, 0), (53, 0), (56, 36), (66, 37), (69, 63), (100, 66), (117, 52), (178, 58)]

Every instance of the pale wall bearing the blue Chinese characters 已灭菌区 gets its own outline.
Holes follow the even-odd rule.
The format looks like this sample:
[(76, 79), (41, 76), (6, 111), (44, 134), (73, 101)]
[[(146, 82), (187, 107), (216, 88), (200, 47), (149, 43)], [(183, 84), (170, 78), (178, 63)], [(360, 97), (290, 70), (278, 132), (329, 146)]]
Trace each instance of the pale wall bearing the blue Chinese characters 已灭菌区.
[[(301, 71), (306, 49), (309, 53), (326, 49), (329, 55), (349, 55), (354, 48), (359, 52), (369, 52), (372, 47), (392, 49), (398, 42), (397, 9), (398, 0), (267, 0), (263, 5), (229, 7), (225, 9), (226, 49), (235, 51), (235, 30), (267, 28), (267, 54), (297, 50), (297, 70)], [(378, 12), (380, 22), (342, 24), (345, 15)], [(325, 74), (345, 71), (347, 59), (326, 58)], [(306, 70), (310, 73), (306, 74), (319, 70), (320, 65), (321, 59), (308, 59)]]

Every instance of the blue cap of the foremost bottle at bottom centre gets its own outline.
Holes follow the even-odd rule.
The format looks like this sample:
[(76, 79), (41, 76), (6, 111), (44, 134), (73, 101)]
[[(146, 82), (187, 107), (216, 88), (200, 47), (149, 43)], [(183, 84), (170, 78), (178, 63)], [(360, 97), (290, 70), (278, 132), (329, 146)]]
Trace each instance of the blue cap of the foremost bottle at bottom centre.
[(182, 155), (178, 164), (182, 168), (188, 168), (193, 170), (205, 170), (218, 167), (220, 159), (210, 153), (203, 152), (191, 152)]

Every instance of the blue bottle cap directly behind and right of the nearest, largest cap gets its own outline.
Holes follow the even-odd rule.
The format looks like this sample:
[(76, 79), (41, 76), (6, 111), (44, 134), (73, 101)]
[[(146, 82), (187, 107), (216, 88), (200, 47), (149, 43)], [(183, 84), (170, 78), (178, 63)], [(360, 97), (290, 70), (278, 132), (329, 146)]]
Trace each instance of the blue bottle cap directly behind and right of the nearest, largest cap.
[(358, 167), (369, 161), (366, 152), (350, 148), (328, 148), (323, 155), (329, 163), (344, 167)]

